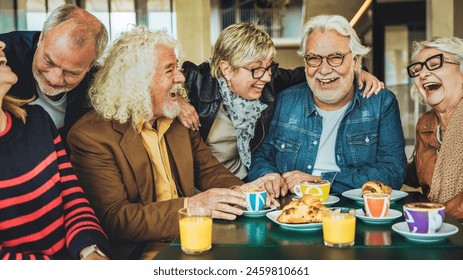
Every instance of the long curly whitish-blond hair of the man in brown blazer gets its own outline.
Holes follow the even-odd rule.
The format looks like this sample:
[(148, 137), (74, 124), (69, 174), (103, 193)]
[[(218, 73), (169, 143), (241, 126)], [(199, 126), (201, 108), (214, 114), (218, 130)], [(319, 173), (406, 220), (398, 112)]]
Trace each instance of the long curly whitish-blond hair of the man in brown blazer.
[(150, 86), (159, 59), (158, 45), (180, 47), (167, 33), (144, 26), (122, 32), (110, 47), (89, 89), (92, 106), (103, 119), (133, 125), (141, 118), (152, 119)]

